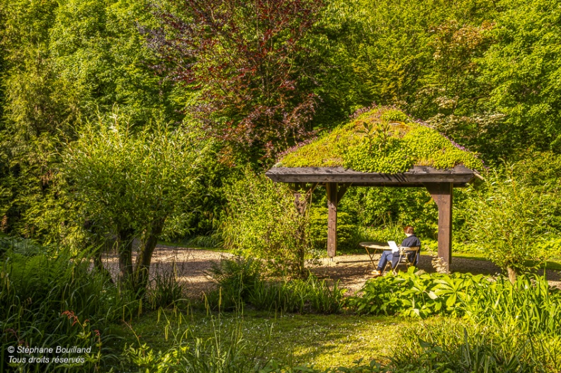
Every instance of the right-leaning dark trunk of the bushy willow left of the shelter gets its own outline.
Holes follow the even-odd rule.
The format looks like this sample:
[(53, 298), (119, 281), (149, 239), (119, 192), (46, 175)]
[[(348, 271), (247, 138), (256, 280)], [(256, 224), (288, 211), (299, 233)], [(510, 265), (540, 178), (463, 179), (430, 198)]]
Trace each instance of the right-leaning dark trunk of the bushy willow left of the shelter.
[(137, 297), (143, 297), (148, 285), (150, 274), (150, 263), (152, 262), (152, 254), (158, 243), (158, 238), (164, 229), (165, 218), (152, 222), (150, 228), (145, 232), (142, 238), (140, 251), (138, 252), (135, 264), (135, 292)]

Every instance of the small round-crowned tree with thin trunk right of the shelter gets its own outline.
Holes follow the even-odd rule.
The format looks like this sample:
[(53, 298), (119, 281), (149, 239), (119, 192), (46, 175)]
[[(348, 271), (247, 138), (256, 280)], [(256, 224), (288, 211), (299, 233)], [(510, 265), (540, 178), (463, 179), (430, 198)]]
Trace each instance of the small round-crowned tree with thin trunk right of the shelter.
[(467, 211), (472, 241), (509, 273), (511, 282), (554, 255), (544, 244), (553, 233), (550, 210), (555, 207), (555, 196), (546, 190), (520, 183), (510, 172), (506, 178), (491, 175), (484, 188), (473, 190), (477, 195)]

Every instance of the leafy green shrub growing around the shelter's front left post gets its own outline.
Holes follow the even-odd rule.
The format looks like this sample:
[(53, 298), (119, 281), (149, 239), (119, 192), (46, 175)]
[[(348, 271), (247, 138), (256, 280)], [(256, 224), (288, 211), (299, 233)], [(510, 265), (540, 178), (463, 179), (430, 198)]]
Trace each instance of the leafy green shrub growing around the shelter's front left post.
[(280, 274), (304, 273), (305, 258), (310, 256), (302, 234), (307, 219), (297, 212), (288, 186), (248, 170), (225, 189), (224, 248), (263, 259)]

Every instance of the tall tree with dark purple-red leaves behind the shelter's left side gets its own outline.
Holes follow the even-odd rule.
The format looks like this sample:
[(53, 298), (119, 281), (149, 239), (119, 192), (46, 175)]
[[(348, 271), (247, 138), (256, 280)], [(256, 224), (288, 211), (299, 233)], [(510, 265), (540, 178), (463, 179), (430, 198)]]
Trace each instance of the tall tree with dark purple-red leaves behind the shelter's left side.
[[(187, 0), (149, 33), (168, 76), (193, 95), (188, 115), (230, 152), (272, 159), (310, 136), (319, 100), (307, 32), (322, 1)], [(164, 67), (165, 66), (165, 67)]]

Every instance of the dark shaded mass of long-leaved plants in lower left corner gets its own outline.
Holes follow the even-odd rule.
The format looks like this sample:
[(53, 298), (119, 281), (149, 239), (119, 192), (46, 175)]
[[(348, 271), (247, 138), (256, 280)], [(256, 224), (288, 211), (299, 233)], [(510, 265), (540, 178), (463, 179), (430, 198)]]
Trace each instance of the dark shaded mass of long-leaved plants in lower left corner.
[[(40, 251), (23, 255), (9, 249), (4, 254), (0, 268), (0, 303), (4, 305), (0, 307), (1, 348), (16, 344), (92, 346), (86, 363), (79, 368), (91, 371), (106, 366), (115, 358), (105, 347), (113, 340), (109, 323), (132, 317), (140, 302), (134, 300), (135, 294), (120, 292), (106, 275), (90, 272), (89, 258), (72, 256), (65, 250)], [(8, 369), (6, 364), (6, 360), (0, 361), (2, 372)], [(44, 372), (55, 369), (55, 363), (19, 367)]]

